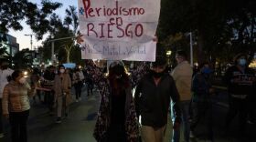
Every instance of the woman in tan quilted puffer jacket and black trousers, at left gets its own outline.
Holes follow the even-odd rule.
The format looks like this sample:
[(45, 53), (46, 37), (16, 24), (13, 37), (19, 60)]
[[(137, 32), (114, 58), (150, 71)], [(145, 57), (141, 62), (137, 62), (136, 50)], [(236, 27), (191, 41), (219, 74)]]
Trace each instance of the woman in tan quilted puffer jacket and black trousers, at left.
[(10, 121), (12, 142), (27, 142), (29, 97), (36, 94), (37, 86), (29, 86), (20, 70), (14, 71), (11, 77), (3, 92), (3, 115)]

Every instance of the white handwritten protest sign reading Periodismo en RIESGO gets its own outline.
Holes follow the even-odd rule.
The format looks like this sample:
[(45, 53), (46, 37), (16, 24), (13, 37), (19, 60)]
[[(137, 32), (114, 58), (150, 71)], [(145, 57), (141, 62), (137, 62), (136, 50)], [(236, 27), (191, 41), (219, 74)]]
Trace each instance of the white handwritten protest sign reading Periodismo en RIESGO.
[(79, 0), (83, 59), (155, 61), (160, 0)]

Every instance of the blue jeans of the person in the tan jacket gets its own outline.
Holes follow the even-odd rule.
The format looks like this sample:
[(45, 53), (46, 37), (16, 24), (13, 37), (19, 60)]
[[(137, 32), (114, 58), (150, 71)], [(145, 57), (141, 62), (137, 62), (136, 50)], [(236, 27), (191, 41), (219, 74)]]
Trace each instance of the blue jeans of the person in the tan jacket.
[[(189, 103), (190, 101), (181, 101), (180, 102), (180, 109), (181, 109), (181, 125), (183, 126), (184, 130), (184, 140), (186, 142), (189, 142), (189, 132), (190, 132), (190, 127), (189, 127)], [(173, 106), (173, 105), (171, 105)], [(171, 117), (173, 123), (175, 122), (176, 117), (173, 114), (173, 108), (171, 109)], [(176, 130), (173, 130), (173, 138), (172, 142), (179, 142), (180, 139), (180, 128), (177, 128)]]

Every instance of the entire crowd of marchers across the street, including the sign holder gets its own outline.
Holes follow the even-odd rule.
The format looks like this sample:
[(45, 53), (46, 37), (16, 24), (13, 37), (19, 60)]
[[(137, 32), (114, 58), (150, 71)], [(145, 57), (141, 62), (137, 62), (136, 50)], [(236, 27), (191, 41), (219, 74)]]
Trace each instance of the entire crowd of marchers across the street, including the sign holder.
[[(104, 73), (88, 60), (82, 69), (63, 65), (48, 66), (43, 71), (34, 68), (29, 78), (21, 70), (8, 68), (5, 60), (0, 63), (0, 112), (9, 119), (13, 142), (27, 142), (30, 97), (34, 103), (38, 100), (48, 106), (49, 115), (61, 123), (69, 116), (70, 103), (81, 101), (85, 83), (87, 96), (94, 94), (95, 86), (101, 95), (93, 133), (99, 142), (163, 142), (168, 114), (173, 122), (172, 142), (180, 141), (181, 129), (186, 142), (197, 137), (202, 118), (207, 120), (207, 140), (214, 141), (213, 68), (205, 62), (193, 72), (185, 51), (176, 52), (177, 66), (171, 72), (165, 56), (156, 56), (155, 62), (134, 66), (129, 72), (122, 61), (110, 61)], [(232, 119), (239, 113), (240, 134), (244, 135), (246, 122), (255, 123), (255, 72), (248, 67), (244, 54), (235, 56), (234, 63), (223, 79), (229, 92), (225, 122), (229, 132)], [(0, 137), (4, 137), (2, 117)]]

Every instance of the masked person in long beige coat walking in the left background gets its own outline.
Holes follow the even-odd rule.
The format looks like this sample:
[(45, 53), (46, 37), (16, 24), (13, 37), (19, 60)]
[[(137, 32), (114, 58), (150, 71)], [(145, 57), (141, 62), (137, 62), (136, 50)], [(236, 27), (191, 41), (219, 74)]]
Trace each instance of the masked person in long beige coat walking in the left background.
[[(66, 105), (66, 96), (70, 94), (71, 79), (69, 74), (65, 73), (65, 66), (59, 65), (59, 73), (54, 78), (54, 95), (55, 103), (57, 103), (57, 120), (56, 123), (61, 123), (62, 109), (64, 109), (65, 117), (68, 117), (68, 107)], [(64, 106), (64, 107), (62, 107)]]

